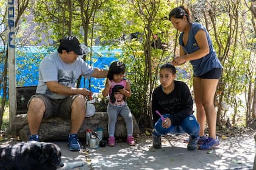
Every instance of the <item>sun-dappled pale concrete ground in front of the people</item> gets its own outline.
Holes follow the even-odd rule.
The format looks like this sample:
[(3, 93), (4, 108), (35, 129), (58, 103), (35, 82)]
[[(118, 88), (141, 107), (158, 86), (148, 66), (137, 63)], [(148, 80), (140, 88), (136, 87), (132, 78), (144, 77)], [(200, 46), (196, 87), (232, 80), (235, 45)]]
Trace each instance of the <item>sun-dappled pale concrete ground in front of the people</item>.
[(65, 141), (53, 143), (62, 149), (65, 163), (85, 162), (84, 166), (74, 169), (252, 169), (255, 155), (252, 135), (220, 139), (220, 145), (212, 151), (187, 151), (187, 144), (183, 143), (185, 137), (165, 136), (162, 149), (152, 147), (151, 136), (140, 136), (133, 147), (120, 142), (114, 147), (85, 147), (80, 152), (69, 151)]

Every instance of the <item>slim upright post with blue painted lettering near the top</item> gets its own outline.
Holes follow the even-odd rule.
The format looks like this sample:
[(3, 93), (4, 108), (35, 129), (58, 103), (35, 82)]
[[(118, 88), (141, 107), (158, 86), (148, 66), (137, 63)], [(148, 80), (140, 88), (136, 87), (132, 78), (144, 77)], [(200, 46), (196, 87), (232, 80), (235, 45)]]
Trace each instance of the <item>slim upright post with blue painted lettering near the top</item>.
[(8, 0), (8, 70), (9, 70), (9, 118), (10, 132), (15, 132), (16, 117), (16, 76), (15, 76), (15, 6)]

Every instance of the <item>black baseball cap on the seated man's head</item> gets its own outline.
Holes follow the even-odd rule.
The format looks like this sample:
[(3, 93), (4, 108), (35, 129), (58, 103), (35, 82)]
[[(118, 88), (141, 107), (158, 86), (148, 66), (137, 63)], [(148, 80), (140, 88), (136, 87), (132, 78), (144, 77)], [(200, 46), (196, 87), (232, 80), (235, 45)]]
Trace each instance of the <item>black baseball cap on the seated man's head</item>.
[(62, 48), (69, 49), (70, 51), (74, 51), (74, 53), (77, 55), (86, 54), (84, 49), (81, 48), (81, 44), (79, 43), (79, 40), (74, 36), (68, 36), (68, 37), (62, 38), (60, 40), (60, 46), (62, 46)]

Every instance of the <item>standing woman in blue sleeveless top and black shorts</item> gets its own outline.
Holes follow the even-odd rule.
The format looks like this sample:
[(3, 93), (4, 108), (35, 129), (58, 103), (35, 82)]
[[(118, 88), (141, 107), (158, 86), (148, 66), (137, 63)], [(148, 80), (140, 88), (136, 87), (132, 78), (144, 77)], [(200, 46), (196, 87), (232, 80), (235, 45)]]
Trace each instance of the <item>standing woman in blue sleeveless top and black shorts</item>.
[[(213, 49), (212, 40), (204, 26), (192, 23), (190, 10), (185, 6), (176, 7), (169, 13), (169, 20), (179, 30), (180, 55), (172, 60), (179, 66), (190, 62), (193, 66), (193, 88), (196, 102), (196, 116), (200, 124), (199, 149), (208, 150), (219, 145), (216, 136), (216, 110), (213, 99), (222, 73), (222, 65)], [(205, 122), (208, 122), (208, 137)]]

